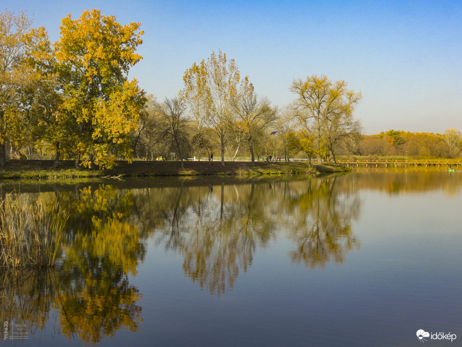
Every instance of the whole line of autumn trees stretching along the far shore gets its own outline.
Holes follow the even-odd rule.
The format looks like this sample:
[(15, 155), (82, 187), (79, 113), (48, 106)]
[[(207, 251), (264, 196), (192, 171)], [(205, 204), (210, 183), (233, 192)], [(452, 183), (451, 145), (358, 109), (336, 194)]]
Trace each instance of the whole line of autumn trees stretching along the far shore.
[(158, 100), (129, 80), (143, 57), (141, 23), (87, 10), (62, 19), (60, 39), (25, 12), (0, 13), (0, 166), (7, 159), (228, 160), (336, 156), (456, 158), (462, 135), (388, 130), (364, 135), (354, 117), (361, 92), (326, 75), (295, 78), (284, 107), (257, 94), (234, 59), (211, 53), (186, 69), (184, 88)]

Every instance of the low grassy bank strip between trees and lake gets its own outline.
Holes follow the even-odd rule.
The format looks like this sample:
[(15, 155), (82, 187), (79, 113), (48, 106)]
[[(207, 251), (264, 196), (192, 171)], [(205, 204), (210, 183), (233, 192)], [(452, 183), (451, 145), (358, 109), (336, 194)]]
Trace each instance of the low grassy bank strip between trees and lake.
[(309, 166), (306, 162), (256, 162), (226, 161), (126, 161), (118, 162), (112, 169), (99, 170), (76, 168), (74, 161), (63, 160), (58, 168), (53, 160), (7, 160), (0, 169), (0, 179), (57, 180), (98, 177), (154, 177), (154, 176), (262, 176), (262, 175), (310, 175), (345, 171), (333, 163)]

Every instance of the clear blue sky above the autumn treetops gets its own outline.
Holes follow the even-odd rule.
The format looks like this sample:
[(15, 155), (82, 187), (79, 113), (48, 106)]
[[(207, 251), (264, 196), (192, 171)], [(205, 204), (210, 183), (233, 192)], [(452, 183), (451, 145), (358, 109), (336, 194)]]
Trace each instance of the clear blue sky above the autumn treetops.
[(61, 19), (86, 9), (141, 22), (143, 60), (130, 77), (158, 99), (183, 88), (194, 62), (221, 50), (255, 91), (284, 107), (294, 78), (327, 75), (361, 91), (364, 133), (462, 131), (462, 2), (111, 0), (2, 1), (59, 39)]

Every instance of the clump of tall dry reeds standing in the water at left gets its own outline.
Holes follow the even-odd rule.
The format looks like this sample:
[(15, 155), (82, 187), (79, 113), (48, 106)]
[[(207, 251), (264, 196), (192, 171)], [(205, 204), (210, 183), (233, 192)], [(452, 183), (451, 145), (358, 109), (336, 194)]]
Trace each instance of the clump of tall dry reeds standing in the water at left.
[(21, 203), (6, 196), (0, 203), (0, 266), (54, 266), (68, 219), (56, 201)]

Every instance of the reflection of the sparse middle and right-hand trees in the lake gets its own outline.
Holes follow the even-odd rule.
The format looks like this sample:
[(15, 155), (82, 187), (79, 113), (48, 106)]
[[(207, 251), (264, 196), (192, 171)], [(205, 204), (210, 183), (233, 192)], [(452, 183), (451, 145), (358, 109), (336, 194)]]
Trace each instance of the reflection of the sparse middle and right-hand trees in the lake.
[[(181, 184), (160, 191), (134, 193), (135, 205), (158, 211), (157, 222), (147, 222), (157, 243), (180, 251), (185, 274), (212, 294), (232, 289), (239, 271), (252, 264), (257, 245), (265, 247), (280, 230), (297, 245), (291, 259), (310, 267), (342, 262), (349, 250), (359, 248), (351, 229), (359, 200), (335, 177), (222, 183), (214, 189)], [(147, 220), (147, 214), (139, 218)]]

